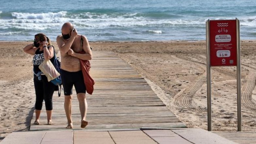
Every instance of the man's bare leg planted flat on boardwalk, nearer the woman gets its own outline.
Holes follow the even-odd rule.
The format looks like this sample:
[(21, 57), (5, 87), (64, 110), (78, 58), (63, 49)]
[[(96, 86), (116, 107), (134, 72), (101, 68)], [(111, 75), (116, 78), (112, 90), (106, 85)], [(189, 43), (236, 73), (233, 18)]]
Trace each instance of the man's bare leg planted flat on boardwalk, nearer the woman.
[(66, 128), (73, 128), (72, 124), (72, 95), (65, 95), (64, 108), (68, 120), (68, 126)]

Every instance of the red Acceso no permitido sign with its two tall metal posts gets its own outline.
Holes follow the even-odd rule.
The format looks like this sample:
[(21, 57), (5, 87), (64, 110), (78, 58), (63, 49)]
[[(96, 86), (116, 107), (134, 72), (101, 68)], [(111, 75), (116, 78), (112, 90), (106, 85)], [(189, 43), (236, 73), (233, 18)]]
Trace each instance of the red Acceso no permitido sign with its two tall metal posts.
[(211, 66), (237, 66), (237, 123), (241, 131), (241, 66), (239, 20), (206, 21), (207, 114), (212, 130)]

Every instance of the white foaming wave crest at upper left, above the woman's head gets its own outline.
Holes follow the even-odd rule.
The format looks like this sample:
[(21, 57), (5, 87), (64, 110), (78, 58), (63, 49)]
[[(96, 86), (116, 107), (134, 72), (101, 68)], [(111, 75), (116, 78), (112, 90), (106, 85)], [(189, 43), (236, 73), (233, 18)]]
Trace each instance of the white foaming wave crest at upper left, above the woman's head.
[(13, 18), (17, 19), (47, 19), (47, 18), (61, 18), (65, 17), (67, 14), (66, 11), (60, 11), (57, 13), (49, 12), (49, 13), (11, 13)]

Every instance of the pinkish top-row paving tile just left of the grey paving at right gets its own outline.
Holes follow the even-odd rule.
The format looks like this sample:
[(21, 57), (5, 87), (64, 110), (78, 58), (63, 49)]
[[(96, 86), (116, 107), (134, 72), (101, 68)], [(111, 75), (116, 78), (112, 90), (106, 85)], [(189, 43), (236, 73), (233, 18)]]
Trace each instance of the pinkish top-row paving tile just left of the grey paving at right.
[(143, 130), (150, 137), (180, 137), (170, 130)]

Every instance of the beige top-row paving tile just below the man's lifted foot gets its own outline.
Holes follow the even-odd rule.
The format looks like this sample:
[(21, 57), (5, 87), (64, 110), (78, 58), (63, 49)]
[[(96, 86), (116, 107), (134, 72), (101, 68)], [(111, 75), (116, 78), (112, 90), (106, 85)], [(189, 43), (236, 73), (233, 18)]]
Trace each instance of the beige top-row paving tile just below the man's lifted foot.
[(74, 138), (111, 138), (107, 131), (88, 132), (74, 131)]

